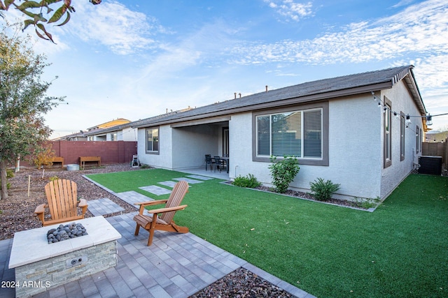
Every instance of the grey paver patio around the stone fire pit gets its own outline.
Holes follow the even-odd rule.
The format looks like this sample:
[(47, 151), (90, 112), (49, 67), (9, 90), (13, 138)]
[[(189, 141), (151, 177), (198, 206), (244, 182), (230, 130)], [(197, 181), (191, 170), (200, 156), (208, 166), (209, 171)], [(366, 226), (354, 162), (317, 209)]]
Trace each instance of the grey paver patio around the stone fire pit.
[[(123, 195), (128, 196), (132, 197), (132, 194)], [(113, 208), (104, 204), (102, 210), (101, 206), (95, 206), (98, 214), (107, 214)], [(139, 236), (134, 236), (132, 218), (135, 214), (137, 211), (106, 218), (122, 235), (118, 239), (116, 267), (34, 297), (189, 297), (239, 267), (258, 274), (296, 297), (314, 297), (190, 232), (155, 231), (153, 245), (148, 247), (148, 232), (141, 230)], [(8, 269), (12, 244), (13, 239), (0, 241), (1, 281), (15, 281), (15, 270)], [(2, 287), (0, 297), (15, 297), (15, 290)]]

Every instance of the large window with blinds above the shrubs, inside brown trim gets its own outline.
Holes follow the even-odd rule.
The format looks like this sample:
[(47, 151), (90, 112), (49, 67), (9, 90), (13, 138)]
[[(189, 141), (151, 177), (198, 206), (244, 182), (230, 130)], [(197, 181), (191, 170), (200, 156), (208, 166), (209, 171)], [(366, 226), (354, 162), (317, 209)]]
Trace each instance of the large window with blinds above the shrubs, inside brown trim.
[(256, 117), (257, 156), (323, 158), (322, 108)]

